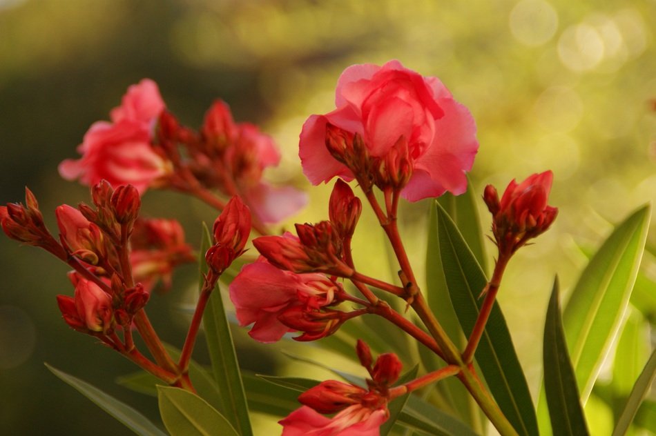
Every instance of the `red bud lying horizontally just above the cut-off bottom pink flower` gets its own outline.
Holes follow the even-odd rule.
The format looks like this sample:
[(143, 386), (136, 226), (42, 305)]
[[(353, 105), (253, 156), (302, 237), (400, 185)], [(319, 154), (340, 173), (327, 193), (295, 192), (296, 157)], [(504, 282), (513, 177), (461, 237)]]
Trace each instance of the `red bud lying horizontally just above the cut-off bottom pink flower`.
[(362, 402), (367, 390), (353, 384), (336, 380), (322, 381), (298, 396), (298, 402), (318, 413), (336, 413)]

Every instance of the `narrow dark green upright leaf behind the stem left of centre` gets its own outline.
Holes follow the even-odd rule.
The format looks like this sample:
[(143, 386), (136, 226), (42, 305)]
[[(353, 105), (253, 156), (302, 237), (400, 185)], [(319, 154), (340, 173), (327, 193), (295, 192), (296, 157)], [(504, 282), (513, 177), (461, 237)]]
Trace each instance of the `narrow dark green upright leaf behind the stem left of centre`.
[[(203, 238), (201, 241), (201, 256), (210, 244), (209, 230), (203, 225)], [(206, 273), (204, 259), (200, 259), (200, 287), (203, 275)], [(253, 434), (249, 419), (249, 409), (244, 393), (244, 385), (240, 373), (237, 354), (233, 344), (232, 333), (226, 318), (223, 300), (218, 287), (214, 289), (209, 298), (203, 315), (205, 338), (212, 362), (214, 380), (221, 393), (222, 405), (218, 408), (238, 430), (238, 434), (249, 436)]]

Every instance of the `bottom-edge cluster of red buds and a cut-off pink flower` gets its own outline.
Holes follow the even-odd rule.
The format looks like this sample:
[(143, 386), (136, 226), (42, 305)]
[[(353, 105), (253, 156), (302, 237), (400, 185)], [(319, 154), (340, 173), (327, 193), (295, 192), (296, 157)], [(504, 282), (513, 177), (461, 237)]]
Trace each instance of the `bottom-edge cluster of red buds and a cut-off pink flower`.
[[(342, 381), (322, 381), (298, 397), (303, 404), (282, 419), (283, 436), (377, 435), (378, 428), (389, 417), (389, 387), (401, 373), (401, 361), (392, 353), (378, 356), (372, 367), (372, 354), (367, 344), (358, 340), (360, 362), (371, 379), (367, 389)], [(336, 413), (329, 418), (324, 414)]]

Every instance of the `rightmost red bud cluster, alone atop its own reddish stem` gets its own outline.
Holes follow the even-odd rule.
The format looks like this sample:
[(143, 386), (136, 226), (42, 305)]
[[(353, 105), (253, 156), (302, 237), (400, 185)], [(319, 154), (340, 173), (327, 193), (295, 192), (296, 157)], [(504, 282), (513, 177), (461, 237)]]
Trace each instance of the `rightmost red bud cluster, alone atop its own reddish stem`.
[(512, 255), (556, 219), (558, 209), (547, 205), (552, 180), (551, 171), (531, 175), (521, 184), (513, 179), (501, 201), (494, 186), (485, 187), (483, 199), (492, 213), (492, 233), (500, 255)]

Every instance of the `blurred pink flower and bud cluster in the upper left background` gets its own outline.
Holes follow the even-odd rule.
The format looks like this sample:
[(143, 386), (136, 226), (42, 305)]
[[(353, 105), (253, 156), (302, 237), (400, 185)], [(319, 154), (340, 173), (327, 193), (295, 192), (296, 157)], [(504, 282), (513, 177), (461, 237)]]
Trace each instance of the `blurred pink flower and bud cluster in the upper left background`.
[[(66, 179), (93, 186), (106, 179), (112, 186), (131, 184), (172, 188), (208, 200), (207, 191), (240, 195), (258, 222), (273, 223), (305, 206), (305, 193), (262, 180), (265, 168), (278, 165), (273, 139), (250, 123), (235, 123), (229, 107), (216, 101), (200, 131), (181, 126), (166, 110), (157, 84), (144, 79), (128, 88), (122, 105), (99, 121), (79, 146), (81, 159), (59, 166)], [(220, 201), (213, 199), (213, 205)]]

